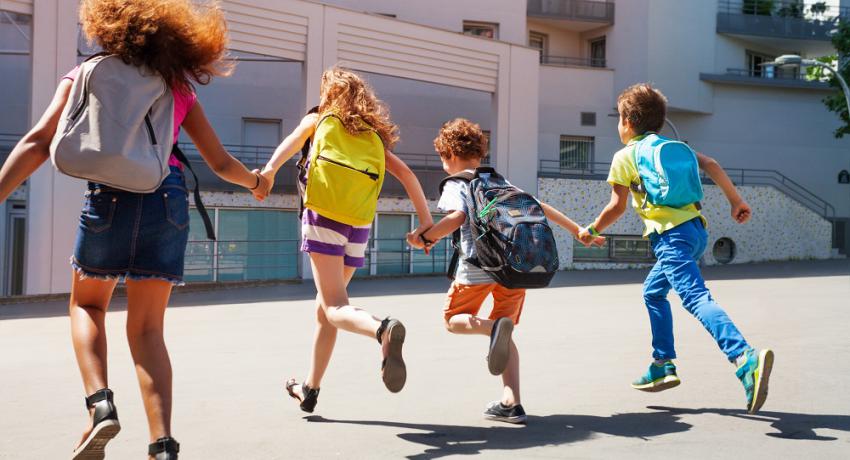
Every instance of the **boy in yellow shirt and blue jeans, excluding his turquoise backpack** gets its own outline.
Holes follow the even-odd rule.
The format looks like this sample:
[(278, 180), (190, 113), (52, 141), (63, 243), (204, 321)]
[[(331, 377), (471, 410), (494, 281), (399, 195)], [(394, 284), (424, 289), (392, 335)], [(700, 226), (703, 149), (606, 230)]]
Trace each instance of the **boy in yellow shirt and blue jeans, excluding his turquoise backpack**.
[[(652, 328), (653, 363), (632, 383), (641, 391), (663, 391), (679, 385), (673, 359), (673, 316), (667, 293), (674, 289), (688, 312), (702, 322), (730, 362), (737, 365), (736, 375), (744, 385), (747, 410), (758, 411), (767, 398), (773, 351), (755, 350), (747, 344), (735, 324), (720, 308), (705, 286), (698, 261), (705, 252), (708, 234), (706, 220), (698, 203), (673, 208), (654, 205), (633, 185), (641, 182), (633, 149), (647, 134), (660, 131), (667, 112), (667, 99), (648, 84), (627, 88), (617, 99), (620, 121), (617, 130), (626, 147), (614, 155), (608, 182), (613, 190), (611, 201), (599, 217), (582, 230), (579, 239), (591, 241), (611, 226), (626, 210), (629, 191), (632, 203), (643, 220), (644, 236), (652, 244), (657, 262), (643, 286), (643, 297)], [(708, 156), (697, 153), (700, 169), (723, 190), (732, 207), (732, 218), (743, 224), (751, 215), (750, 206), (741, 198), (723, 168)]]

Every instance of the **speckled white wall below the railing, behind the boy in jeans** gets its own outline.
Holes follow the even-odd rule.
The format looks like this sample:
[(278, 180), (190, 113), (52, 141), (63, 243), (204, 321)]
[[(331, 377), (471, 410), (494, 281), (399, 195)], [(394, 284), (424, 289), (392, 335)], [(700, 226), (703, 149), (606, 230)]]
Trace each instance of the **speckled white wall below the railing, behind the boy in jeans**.
[[(539, 198), (562, 210), (581, 224), (592, 222), (611, 196), (611, 187), (603, 181), (540, 179)], [(739, 187), (741, 196), (753, 207), (753, 218), (745, 224), (729, 216), (729, 204), (716, 186), (705, 187), (703, 215), (708, 220), (708, 249), (704, 262), (717, 263), (711, 248), (720, 238), (731, 239), (736, 246), (732, 263), (771, 260), (828, 259), (832, 245), (832, 226), (797, 202), (788, 200), (772, 187)], [(629, 209), (606, 233), (636, 235), (643, 224)], [(573, 262), (572, 235), (556, 229), (558, 253), (564, 268), (611, 268), (621, 265)]]

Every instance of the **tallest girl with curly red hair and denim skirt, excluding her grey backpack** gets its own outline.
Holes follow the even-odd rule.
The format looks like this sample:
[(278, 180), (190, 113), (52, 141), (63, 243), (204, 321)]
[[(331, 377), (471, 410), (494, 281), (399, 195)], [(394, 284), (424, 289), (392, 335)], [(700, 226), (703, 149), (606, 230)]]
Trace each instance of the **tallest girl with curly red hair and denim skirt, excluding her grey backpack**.
[[(221, 145), (193, 91), (226, 76), (227, 27), (216, 3), (190, 0), (82, 0), (80, 22), (89, 40), (124, 63), (158, 73), (174, 96), (174, 139), (185, 129), (204, 161), (222, 179), (261, 197), (269, 184)], [(50, 106), (0, 170), (0, 201), (44, 163), (79, 69), (59, 83)], [(120, 280), (127, 286), (127, 338), (142, 391), (156, 460), (177, 458), (171, 437), (171, 363), (163, 319), (172, 286), (183, 280), (189, 209), (181, 164), (153, 193), (131, 193), (89, 183), (71, 258), (71, 336), (91, 423), (75, 459), (103, 458), (121, 426), (108, 388), (104, 320)]]

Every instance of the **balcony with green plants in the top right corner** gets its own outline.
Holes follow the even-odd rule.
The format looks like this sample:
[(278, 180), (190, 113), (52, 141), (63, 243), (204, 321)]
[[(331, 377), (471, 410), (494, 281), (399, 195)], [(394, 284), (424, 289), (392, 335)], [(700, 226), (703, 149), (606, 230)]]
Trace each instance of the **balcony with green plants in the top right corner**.
[[(775, 0), (719, 0), (717, 32), (741, 37), (794, 40), (786, 43), (798, 52), (827, 50), (837, 23), (850, 16), (850, 10), (816, 4), (782, 3)], [(807, 49), (800, 41), (812, 43)], [(776, 42), (771, 42), (775, 45)], [(801, 48), (802, 46), (802, 48)]]

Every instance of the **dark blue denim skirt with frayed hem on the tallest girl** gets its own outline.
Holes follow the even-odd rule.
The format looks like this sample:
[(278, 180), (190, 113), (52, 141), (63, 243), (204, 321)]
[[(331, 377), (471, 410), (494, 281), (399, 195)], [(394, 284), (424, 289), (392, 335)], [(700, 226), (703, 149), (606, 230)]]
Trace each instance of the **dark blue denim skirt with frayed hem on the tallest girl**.
[(183, 284), (189, 197), (180, 168), (153, 193), (89, 183), (71, 265), (81, 278)]

